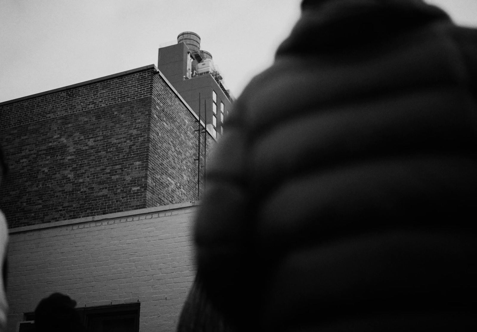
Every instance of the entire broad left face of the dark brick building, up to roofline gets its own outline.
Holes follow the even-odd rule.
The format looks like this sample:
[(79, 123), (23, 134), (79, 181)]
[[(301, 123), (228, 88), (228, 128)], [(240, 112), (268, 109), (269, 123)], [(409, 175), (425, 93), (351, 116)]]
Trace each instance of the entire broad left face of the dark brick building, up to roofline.
[(146, 207), (152, 71), (0, 105), (10, 228)]

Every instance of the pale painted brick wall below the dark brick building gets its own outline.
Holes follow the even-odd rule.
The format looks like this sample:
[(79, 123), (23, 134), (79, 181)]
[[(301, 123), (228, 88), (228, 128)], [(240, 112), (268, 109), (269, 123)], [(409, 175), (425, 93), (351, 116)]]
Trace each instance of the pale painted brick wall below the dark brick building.
[(56, 291), (77, 307), (139, 300), (141, 332), (175, 331), (196, 272), (196, 207), (141, 211), (10, 234), (9, 331)]

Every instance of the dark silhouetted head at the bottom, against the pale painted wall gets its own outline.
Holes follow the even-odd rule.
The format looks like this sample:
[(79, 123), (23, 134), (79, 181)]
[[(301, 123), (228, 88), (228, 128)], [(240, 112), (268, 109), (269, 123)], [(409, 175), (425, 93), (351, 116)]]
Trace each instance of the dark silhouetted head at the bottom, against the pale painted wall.
[(74, 310), (76, 301), (61, 293), (53, 293), (38, 303), (35, 309), (35, 329), (37, 332), (85, 332), (78, 312)]

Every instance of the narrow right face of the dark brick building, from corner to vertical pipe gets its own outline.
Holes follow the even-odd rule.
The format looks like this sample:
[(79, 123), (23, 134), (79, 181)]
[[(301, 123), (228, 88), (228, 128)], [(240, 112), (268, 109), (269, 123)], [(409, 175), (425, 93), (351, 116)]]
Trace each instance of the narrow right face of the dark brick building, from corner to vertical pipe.
[(153, 84), (147, 203), (197, 200), (196, 118), (160, 75)]

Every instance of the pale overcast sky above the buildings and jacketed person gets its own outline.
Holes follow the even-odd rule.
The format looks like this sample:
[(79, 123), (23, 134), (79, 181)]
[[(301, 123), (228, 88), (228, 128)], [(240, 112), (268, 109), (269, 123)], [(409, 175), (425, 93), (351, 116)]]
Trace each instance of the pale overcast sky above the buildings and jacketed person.
[[(238, 96), (273, 62), (301, 0), (0, 0), (0, 102), (157, 65), (161, 43), (201, 37)], [(477, 27), (477, 0), (428, 0)]]

